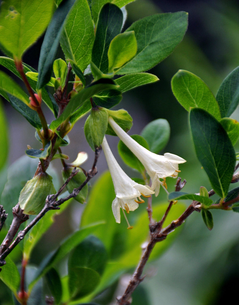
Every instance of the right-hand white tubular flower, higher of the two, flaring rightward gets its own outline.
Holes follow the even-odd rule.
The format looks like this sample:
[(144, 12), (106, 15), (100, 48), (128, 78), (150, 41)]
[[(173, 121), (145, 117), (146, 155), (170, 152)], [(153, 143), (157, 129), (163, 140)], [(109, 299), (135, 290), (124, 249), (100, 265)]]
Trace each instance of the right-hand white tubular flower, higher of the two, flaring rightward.
[[(176, 178), (180, 172), (179, 163), (184, 163), (186, 160), (168, 152), (165, 153), (164, 156), (150, 152), (148, 149), (139, 145), (139, 143), (137, 143), (125, 131), (123, 131), (123, 129), (117, 123), (115, 123), (112, 117), (109, 117), (109, 123), (118, 137), (125, 143), (126, 146), (128, 146), (128, 148), (143, 164), (152, 180), (151, 189), (155, 190), (155, 196), (158, 196), (160, 185), (167, 188), (165, 178)], [(160, 181), (159, 178), (162, 178), (163, 181)]]

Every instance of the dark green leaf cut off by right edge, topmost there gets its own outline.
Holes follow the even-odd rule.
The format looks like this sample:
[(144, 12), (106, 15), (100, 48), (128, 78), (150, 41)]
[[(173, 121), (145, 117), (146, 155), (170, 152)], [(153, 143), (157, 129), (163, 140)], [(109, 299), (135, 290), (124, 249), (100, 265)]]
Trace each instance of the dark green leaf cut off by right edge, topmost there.
[(230, 117), (239, 103), (239, 67), (224, 79), (217, 92), (216, 100), (222, 117)]

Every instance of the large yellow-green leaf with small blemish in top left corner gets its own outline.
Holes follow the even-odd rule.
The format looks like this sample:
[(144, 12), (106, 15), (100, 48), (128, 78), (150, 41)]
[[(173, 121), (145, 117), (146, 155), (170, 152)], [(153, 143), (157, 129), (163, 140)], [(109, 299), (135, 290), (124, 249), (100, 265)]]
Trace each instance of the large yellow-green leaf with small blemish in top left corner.
[(8, 0), (2, 2), (0, 43), (8, 55), (22, 54), (42, 35), (52, 13), (53, 0)]

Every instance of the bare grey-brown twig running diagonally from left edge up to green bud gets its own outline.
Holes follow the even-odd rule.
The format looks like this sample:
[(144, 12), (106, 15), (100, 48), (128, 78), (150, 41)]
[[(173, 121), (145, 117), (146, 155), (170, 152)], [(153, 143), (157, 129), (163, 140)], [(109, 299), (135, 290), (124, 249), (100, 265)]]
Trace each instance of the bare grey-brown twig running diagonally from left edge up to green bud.
[[(5, 257), (7, 257), (9, 255), (9, 253), (12, 252), (12, 250), (16, 247), (16, 245), (22, 240), (24, 239), (25, 235), (27, 234), (28, 231), (31, 230), (31, 228), (45, 215), (46, 212), (48, 212), (49, 210), (59, 210), (60, 209), (60, 205), (62, 203), (64, 203), (65, 201), (67, 201), (70, 198), (76, 197), (78, 195), (78, 193), (81, 191), (81, 189), (86, 185), (86, 183), (93, 178), (96, 174), (97, 174), (97, 169), (96, 169), (96, 163), (97, 160), (99, 158), (101, 152), (101, 148), (97, 148), (96, 152), (95, 152), (95, 159), (94, 159), (94, 163), (92, 165), (92, 168), (86, 173), (86, 179), (85, 181), (78, 187), (75, 188), (73, 190), (73, 192), (65, 197), (65, 198), (61, 198), (59, 200), (56, 200), (57, 198), (57, 194), (60, 194), (60, 192), (63, 189), (63, 186), (66, 185), (66, 182), (63, 184), (63, 186), (59, 189), (59, 191), (57, 192), (57, 194), (55, 195), (48, 195), (46, 198), (46, 203), (44, 208), (41, 210), (41, 212), (26, 226), (26, 228), (22, 231), (20, 231), (17, 234), (16, 239), (12, 242), (12, 244), (10, 245), (11, 241), (13, 240), (13, 238), (10, 240), (8, 240), (7, 243), (4, 244), (4, 252), (2, 252), (2, 254), (0, 255), (0, 266), (3, 266), (5, 264)], [(72, 175), (72, 177), (77, 174), (77, 171), (74, 172), (74, 174)], [(68, 179), (67, 179), (68, 180)], [(70, 181), (70, 180), (69, 180)], [(68, 182), (69, 182), (68, 181)], [(57, 195), (57, 196), (56, 196)], [(21, 210), (22, 211), (22, 210)], [(25, 214), (23, 214), (25, 215)], [(28, 217), (28, 215), (25, 215)], [(19, 220), (18, 220), (19, 222)], [(19, 227), (18, 227), (19, 228)], [(18, 230), (18, 229), (17, 229)], [(9, 230), (10, 231), (10, 230)], [(16, 235), (16, 232), (14, 234), (14, 236)], [(6, 236), (7, 237), (7, 236)], [(12, 236), (11, 236), (12, 237)], [(10, 246), (9, 246), (10, 245)]]

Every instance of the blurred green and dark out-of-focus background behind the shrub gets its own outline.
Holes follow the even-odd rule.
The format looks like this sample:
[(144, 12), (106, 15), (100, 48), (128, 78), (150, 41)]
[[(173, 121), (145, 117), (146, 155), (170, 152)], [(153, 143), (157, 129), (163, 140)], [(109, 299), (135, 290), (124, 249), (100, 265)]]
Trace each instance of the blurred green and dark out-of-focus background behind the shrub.
[[(187, 160), (180, 166), (180, 176), (187, 181), (184, 191), (196, 193), (202, 185), (210, 190), (210, 183), (194, 153), (188, 128), (188, 114), (174, 98), (170, 81), (179, 69), (189, 70), (201, 77), (216, 94), (226, 75), (239, 65), (239, 2), (136, 0), (127, 6), (128, 20), (125, 27), (147, 15), (181, 10), (189, 13), (188, 31), (176, 50), (150, 71), (157, 75), (160, 81), (125, 94), (116, 109), (125, 108), (133, 117), (134, 125), (130, 134), (139, 134), (151, 120), (168, 120), (171, 138), (161, 154), (171, 152)], [(42, 39), (24, 55), (24, 62), (35, 69), (38, 65)], [(24, 154), (27, 144), (34, 148), (39, 148), (39, 145), (34, 138), (34, 128), (29, 126), (7, 102), (4, 102), (4, 108), (9, 122), (11, 164)], [(232, 117), (239, 120), (238, 110)], [(51, 119), (51, 116), (47, 118), (49, 122)], [(72, 162), (79, 151), (87, 151), (89, 160), (84, 168), (88, 169), (92, 163), (93, 152), (84, 139), (83, 126), (84, 119), (71, 131), (71, 143), (63, 149), (63, 153), (67, 153)], [(133, 171), (123, 165), (118, 156), (118, 138), (108, 139), (121, 166), (128, 174), (135, 176)], [(236, 151), (239, 151), (238, 144)], [(53, 162), (60, 173), (60, 162)], [(107, 169), (103, 154), (97, 167), (99, 175)], [(5, 180), (4, 169), (1, 177), (0, 189)], [(172, 191), (175, 180), (169, 180), (168, 188)], [(162, 191), (155, 201), (159, 200), (166, 200)], [(66, 213), (59, 217), (50, 233), (35, 249), (33, 263), (38, 264), (46, 252), (53, 249), (63, 236), (78, 226), (82, 208), (79, 204), (73, 204), (67, 209), (66, 213), (72, 213), (72, 221), (67, 219)], [(199, 213), (194, 213), (187, 219), (173, 245), (157, 261), (147, 265), (147, 277), (134, 293), (132, 305), (216, 305), (230, 303), (237, 297), (235, 288), (239, 282), (239, 215), (230, 211), (213, 211), (213, 216), (212, 231), (208, 231)], [(60, 226), (62, 221), (66, 224), (65, 228)], [(121, 279), (121, 289), (127, 283), (127, 279)], [(3, 287), (0, 283), (0, 300), (3, 300), (5, 293)], [(117, 294), (120, 294), (119, 290)]]

